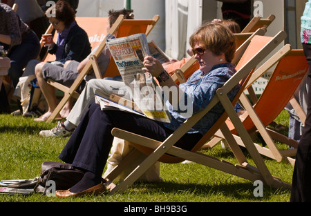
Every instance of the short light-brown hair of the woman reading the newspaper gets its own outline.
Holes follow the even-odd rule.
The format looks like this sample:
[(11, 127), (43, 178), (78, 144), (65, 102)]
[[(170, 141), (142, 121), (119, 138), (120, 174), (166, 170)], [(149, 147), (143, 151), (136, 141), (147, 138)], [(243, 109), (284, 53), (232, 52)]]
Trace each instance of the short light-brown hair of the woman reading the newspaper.
[(236, 52), (236, 38), (229, 28), (220, 23), (204, 23), (189, 39), (190, 46), (194, 48), (197, 43), (202, 43), (205, 49), (218, 56), (225, 54), (228, 62), (231, 62)]

